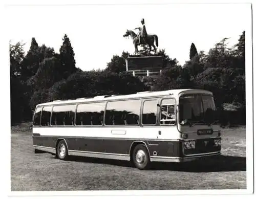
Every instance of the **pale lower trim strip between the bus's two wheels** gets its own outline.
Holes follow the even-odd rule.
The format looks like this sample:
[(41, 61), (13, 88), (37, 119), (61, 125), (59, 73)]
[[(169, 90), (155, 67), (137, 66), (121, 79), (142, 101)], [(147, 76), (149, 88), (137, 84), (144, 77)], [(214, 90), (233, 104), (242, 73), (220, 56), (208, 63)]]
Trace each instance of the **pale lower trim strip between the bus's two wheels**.
[(104, 152), (70, 150), (69, 155), (70, 156), (82, 156), (82, 157), (91, 157), (91, 158), (103, 158), (103, 159), (130, 161), (129, 154), (119, 154), (119, 153), (104, 153)]

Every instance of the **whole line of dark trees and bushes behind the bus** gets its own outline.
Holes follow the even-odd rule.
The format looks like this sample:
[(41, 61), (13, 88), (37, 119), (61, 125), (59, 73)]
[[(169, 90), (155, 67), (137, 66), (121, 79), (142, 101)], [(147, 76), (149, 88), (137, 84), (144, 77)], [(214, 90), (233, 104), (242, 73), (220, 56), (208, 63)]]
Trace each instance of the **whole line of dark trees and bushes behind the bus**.
[(10, 44), (12, 124), (31, 121), (36, 104), (42, 102), (168, 89), (209, 90), (219, 109), (232, 104), (243, 110), (240, 117), (245, 118), (245, 32), (234, 47), (227, 48), (228, 38), (224, 38), (207, 54), (198, 53), (191, 43), (189, 60), (183, 66), (160, 50), (162, 74), (142, 81), (125, 73), (129, 53), (114, 55), (105, 70), (83, 72), (76, 68), (69, 37), (65, 34), (62, 40), (59, 53), (38, 46), (35, 38), (27, 54), (22, 43)]

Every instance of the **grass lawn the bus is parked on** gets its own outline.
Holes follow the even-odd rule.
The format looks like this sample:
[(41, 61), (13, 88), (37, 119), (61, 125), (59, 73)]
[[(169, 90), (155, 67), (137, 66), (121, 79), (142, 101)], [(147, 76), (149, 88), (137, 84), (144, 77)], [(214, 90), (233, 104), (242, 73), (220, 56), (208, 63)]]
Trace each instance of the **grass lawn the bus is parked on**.
[(218, 159), (141, 171), (125, 161), (34, 154), (29, 125), (11, 127), (12, 191), (246, 189), (245, 127), (222, 130)]

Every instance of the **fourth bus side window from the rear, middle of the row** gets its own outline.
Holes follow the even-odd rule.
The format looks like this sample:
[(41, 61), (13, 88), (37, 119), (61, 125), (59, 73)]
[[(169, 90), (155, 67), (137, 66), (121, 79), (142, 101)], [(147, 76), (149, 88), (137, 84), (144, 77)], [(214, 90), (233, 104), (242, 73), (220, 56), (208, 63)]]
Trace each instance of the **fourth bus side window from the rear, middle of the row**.
[(76, 110), (76, 125), (103, 125), (105, 103), (78, 104)]

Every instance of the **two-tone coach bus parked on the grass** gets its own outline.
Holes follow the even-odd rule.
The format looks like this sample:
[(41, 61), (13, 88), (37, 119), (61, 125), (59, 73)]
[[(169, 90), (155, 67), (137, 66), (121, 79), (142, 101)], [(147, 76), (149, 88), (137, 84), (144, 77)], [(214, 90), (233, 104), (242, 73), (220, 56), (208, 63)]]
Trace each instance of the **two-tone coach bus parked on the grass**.
[(36, 105), (35, 153), (131, 161), (187, 162), (221, 154), (211, 92), (168, 90), (56, 100)]

